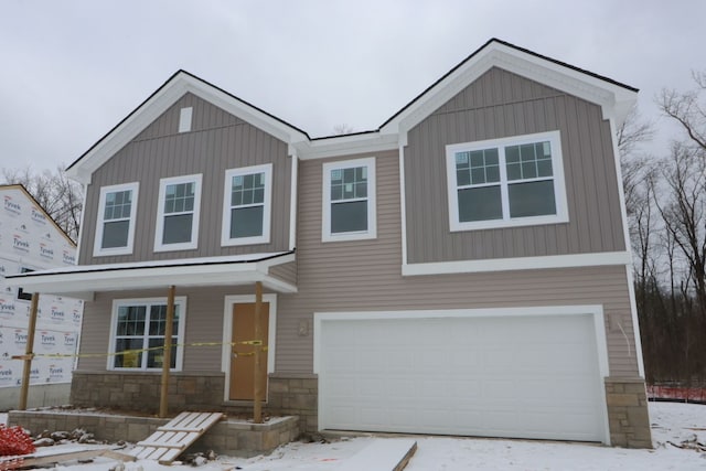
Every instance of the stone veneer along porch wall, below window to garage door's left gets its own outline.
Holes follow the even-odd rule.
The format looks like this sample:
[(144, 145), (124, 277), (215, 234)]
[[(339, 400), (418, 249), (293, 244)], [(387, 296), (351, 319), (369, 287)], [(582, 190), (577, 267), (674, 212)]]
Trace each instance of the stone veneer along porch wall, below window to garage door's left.
[[(156, 414), (160, 402), (159, 373), (75, 372), (71, 404), (76, 407), (113, 408)], [(169, 382), (169, 410), (224, 411), (249, 415), (247, 402), (224, 402), (225, 375), (192, 375), (172, 373)], [(301, 431), (318, 430), (318, 379), (315, 375), (291, 376), (272, 374), (269, 377), (265, 414), (298, 416)]]

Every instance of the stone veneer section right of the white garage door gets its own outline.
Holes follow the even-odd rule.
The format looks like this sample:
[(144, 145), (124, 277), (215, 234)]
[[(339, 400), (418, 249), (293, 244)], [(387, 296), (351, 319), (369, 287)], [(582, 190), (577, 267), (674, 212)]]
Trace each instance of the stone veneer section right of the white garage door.
[(652, 448), (644, 379), (607, 377), (606, 403), (613, 447)]

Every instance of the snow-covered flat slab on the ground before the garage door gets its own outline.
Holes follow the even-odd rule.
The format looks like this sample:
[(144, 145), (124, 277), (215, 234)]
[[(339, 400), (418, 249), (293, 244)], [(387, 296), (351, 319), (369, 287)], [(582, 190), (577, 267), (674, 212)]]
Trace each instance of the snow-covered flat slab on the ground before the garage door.
[(402, 471), (417, 451), (410, 439), (378, 438), (345, 460), (339, 471)]

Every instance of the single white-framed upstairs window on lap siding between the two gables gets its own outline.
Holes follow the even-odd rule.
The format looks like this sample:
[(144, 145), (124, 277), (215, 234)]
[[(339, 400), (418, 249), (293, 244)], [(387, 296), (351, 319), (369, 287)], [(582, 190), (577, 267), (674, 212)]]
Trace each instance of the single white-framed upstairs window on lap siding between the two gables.
[(375, 158), (324, 163), (322, 201), (323, 242), (375, 238)]

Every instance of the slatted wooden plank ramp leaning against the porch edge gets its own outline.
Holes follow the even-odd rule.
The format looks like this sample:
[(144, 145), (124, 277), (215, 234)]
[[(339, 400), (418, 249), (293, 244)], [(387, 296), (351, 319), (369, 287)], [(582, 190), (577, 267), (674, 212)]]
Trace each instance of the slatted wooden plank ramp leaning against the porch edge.
[(199, 437), (224, 417), (222, 413), (181, 413), (169, 424), (139, 441), (130, 454), (138, 460), (171, 464)]

